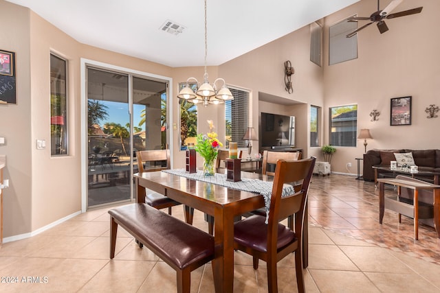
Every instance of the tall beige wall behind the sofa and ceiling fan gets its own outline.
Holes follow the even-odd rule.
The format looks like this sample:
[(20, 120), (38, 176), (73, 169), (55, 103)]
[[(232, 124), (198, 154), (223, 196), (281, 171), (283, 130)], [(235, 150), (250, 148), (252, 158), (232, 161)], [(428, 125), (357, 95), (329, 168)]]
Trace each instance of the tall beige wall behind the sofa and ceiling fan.
[[(381, 1), (385, 7), (390, 1)], [(423, 6), (421, 14), (386, 21), (389, 31), (380, 34), (371, 25), (358, 34), (358, 59), (328, 66), (328, 27), (353, 14), (368, 16), (376, 10), (372, 1), (360, 1), (325, 19), (325, 130), (328, 107), (358, 104), (358, 130), (369, 128), (371, 148), (440, 148), (440, 136), (435, 134), (440, 119), (427, 119), (425, 108), (439, 106), (440, 38), (432, 25), (440, 12), (440, 1), (404, 1), (396, 12)], [(390, 126), (390, 99), (412, 96), (412, 125)], [(371, 121), (369, 113), (376, 109), (379, 121)], [(328, 142), (328, 135), (325, 135)], [(364, 153), (363, 141), (357, 148), (338, 148), (332, 159), (332, 171), (347, 172), (346, 163)]]

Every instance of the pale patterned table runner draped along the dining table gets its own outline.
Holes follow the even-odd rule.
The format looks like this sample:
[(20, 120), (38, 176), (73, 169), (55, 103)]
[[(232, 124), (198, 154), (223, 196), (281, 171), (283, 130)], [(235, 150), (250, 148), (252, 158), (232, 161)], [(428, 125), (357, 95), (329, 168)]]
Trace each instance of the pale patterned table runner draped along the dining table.
[[(265, 202), (266, 224), (269, 220), (270, 197), (272, 196), (272, 185), (273, 185), (273, 183), (270, 181), (241, 178), (241, 181), (233, 182), (226, 180), (227, 178), (226, 174), (215, 173), (214, 176), (203, 176), (203, 172), (199, 170), (197, 170), (197, 173), (188, 173), (186, 172), (186, 169), (166, 169), (166, 170), (162, 170), (162, 172), (190, 178), (193, 180), (199, 180), (206, 183), (212, 183), (215, 185), (220, 185), (231, 189), (248, 191), (248, 192), (252, 192), (253, 194), (261, 194)], [(294, 193), (295, 193), (294, 187), (292, 185), (285, 184), (283, 186), (283, 194), (281, 194), (281, 197), (289, 196)]]

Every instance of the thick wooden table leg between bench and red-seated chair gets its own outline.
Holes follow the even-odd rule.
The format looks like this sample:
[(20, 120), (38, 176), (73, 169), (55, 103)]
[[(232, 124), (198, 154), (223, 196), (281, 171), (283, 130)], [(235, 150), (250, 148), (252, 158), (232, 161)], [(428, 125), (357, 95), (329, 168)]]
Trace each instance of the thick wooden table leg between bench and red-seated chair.
[(234, 217), (225, 209), (214, 209), (215, 292), (232, 292), (234, 288)]

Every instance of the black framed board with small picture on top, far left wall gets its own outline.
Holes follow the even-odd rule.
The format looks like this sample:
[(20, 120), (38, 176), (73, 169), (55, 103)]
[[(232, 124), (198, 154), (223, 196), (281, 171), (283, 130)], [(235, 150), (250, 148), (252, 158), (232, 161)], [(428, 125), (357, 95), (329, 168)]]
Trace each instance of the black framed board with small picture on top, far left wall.
[(17, 104), (15, 53), (0, 50), (0, 104)]

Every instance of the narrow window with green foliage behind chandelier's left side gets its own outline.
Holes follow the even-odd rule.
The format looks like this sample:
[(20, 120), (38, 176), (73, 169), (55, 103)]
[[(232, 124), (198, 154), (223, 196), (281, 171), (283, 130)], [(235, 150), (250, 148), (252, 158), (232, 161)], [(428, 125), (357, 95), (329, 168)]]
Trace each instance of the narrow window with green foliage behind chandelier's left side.
[[(179, 83), (179, 91), (184, 88), (186, 82)], [(194, 91), (197, 84), (190, 83), (190, 88)], [(177, 93), (179, 93), (177, 91)], [(197, 106), (186, 99), (179, 99), (180, 105), (180, 150), (186, 150), (188, 143), (195, 143), (197, 137)]]

